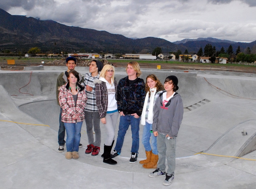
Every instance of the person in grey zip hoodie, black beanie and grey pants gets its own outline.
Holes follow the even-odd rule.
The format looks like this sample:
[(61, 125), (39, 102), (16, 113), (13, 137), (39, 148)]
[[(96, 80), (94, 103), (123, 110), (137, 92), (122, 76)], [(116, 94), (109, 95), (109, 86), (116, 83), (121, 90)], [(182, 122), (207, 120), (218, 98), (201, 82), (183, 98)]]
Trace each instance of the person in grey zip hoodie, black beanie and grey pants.
[[(168, 76), (164, 81), (165, 92), (161, 93), (154, 105), (152, 130), (157, 136), (158, 166), (150, 177), (166, 176), (164, 185), (170, 185), (174, 179), (176, 137), (183, 118), (183, 103), (176, 93), (179, 89), (178, 78)], [(165, 159), (167, 158), (168, 169)]]

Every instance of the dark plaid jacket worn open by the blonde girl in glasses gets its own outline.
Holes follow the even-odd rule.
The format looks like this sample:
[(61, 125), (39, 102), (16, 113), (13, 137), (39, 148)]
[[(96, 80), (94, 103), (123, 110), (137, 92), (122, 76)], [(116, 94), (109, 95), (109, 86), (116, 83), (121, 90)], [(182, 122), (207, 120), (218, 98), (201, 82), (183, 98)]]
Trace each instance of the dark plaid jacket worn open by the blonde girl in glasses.
[[(97, 82), (95, 84), (96, 104), (98, 107), (100, 118), (104, 118), (108, 110), (108, 89), (105, 82), (100, 80), (97, 80), (96, 82)], [(116, 81), (114, 81), (114, 86), (117, 91)], [(116, 93), (116, 99), (117, 99), (117, 93)]]

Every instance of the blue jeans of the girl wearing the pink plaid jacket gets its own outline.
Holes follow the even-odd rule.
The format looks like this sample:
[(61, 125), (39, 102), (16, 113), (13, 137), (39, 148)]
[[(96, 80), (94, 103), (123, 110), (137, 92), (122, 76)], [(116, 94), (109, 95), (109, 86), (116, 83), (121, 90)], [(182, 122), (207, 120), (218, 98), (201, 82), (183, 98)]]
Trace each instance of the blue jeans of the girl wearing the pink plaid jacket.
[(77, 123), (64, 123), (66, 132), (67, 132), (67, 139), (66, 139), (66, 147), (67, 152), (78, 152), (80, 138), (81, 138), (81, 128), (83, 122)]

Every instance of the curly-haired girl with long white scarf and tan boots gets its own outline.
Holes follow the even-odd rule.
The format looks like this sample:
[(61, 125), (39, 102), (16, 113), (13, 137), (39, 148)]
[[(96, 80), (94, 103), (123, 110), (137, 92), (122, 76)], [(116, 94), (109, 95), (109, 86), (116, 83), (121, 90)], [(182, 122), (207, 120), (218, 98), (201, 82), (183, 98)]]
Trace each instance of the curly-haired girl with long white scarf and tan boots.
[[(154, 104), (156, 98), (159, 96), (162, 90), (164, 90), (164, 87), (157, 79), (157, 77), (154, 74), (148, 75), (148, 77), (146, 78), (145, 86), (145, 91), (147, 93), (141, 115), (141, 124), (144, 125), (142, 144), (144, 145), (144, 148), (146, 150), (147, 159), (140, 161), (140, 164), (143, 164), (142, 166), (146, 169), (155, 169), (157, 167), (158, 151), (156, 145), (156, 137), (152, 132), (152, 123)], [(152, 148), (150, 145), (150, 137)]]

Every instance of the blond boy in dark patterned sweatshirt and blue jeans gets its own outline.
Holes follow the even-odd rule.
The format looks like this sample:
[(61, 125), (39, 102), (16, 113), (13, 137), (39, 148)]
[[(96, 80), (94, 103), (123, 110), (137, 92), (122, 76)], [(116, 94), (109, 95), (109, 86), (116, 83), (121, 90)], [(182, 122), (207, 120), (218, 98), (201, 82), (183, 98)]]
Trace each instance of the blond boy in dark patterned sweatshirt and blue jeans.
[(135, 163), (139, 150), (140, 116), (145, 100), (145, 83), (138, 62), (129, 62), (126, 67), (127, 77), (120, 79), (117, 87), (117, 108), (120, 114), (119, 130), (114, 152), (111, 158), (121, 153), (124, 136), (129, 126), (132, 130), (132, 149), (130, 163)]

